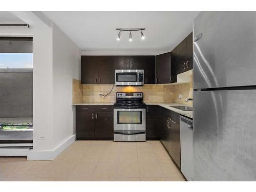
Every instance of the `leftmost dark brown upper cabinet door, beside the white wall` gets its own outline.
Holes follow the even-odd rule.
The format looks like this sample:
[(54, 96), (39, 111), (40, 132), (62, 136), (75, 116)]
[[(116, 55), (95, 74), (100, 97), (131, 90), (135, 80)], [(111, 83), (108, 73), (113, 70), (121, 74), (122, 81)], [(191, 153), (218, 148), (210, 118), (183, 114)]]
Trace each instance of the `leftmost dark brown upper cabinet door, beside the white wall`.
[(81, 84), (98, 83), (98, 56), (81, 56)]

